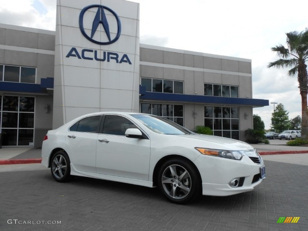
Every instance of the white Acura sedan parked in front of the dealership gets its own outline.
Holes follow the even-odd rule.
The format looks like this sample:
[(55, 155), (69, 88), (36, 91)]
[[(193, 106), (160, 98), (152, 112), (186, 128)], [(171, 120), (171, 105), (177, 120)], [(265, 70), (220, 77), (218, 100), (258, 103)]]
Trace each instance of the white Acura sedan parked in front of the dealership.
[(249, 144), (132, 112), (83, 115), (48, 131), (42, 164), (59, 182), (75, 175), (158, 186), (179, 204), (201, 194), (252, 191), (265, 178), (263, 160)]

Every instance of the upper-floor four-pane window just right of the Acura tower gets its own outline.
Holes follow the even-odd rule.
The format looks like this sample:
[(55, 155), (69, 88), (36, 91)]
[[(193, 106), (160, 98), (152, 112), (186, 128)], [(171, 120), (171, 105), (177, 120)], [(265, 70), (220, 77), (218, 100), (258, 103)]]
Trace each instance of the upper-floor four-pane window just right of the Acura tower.
[(183, 82), (164, 79), (141, 78), (146, 91), (183, 94)]

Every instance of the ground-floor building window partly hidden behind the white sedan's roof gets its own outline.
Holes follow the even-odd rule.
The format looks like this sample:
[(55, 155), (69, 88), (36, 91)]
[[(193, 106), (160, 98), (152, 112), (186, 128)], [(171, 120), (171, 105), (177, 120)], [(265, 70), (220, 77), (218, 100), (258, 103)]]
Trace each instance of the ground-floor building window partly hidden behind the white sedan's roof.
[(140, 112), (151, 115), (162, 116), (181, 126), (184, 126), (183, 105), (161, 104), (161, 103), (141, 103)]

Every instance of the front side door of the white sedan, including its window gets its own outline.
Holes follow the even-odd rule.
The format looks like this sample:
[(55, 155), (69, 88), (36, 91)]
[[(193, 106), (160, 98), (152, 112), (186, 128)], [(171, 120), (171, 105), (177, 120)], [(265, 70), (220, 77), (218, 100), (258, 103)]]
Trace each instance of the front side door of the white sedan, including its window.
[(150, 140), (128, 138), (125, 131), (137, 126), (121, 115), (106, 115), (96, 142), (99, 174), (148, 180)]

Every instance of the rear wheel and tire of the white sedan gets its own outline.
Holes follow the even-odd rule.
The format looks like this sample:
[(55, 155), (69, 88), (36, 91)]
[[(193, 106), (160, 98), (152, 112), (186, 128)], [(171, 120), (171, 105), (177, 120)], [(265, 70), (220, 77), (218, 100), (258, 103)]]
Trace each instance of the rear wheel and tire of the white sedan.
[(71, 178), (70, 159), (66, 152), (58, 151), (51, 158), (51, 175), (58, 182), (66, 182)]

